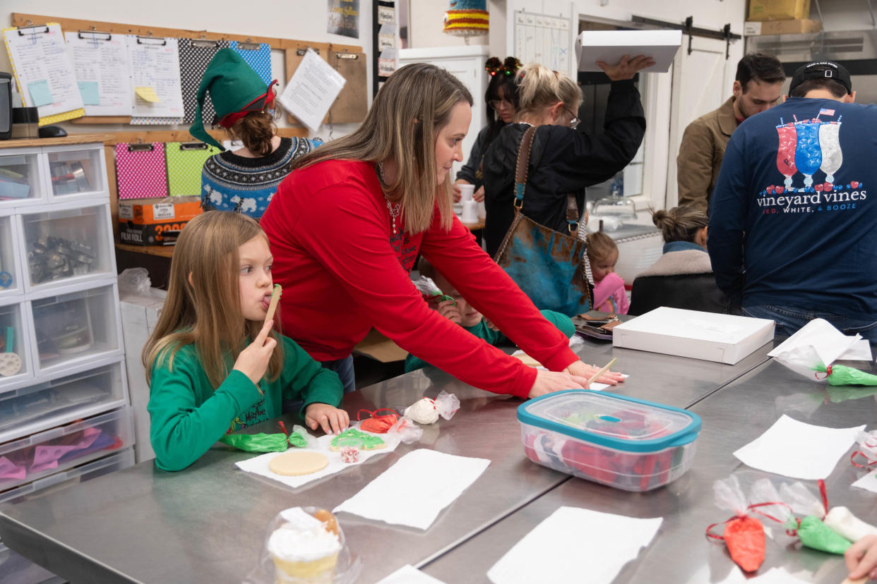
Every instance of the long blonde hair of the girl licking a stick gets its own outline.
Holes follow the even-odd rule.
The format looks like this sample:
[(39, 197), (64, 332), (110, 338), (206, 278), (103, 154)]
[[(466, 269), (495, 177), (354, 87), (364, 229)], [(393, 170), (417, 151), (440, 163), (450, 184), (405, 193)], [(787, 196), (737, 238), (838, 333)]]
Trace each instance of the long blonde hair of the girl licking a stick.
[[(227, 211), (206, 211), (182, 229), (170, 265), (168, 298), (141, 355), (147, 382), (157, 360), (173, 368), (176, 351), (189, 344), (195, 345), (213, 389), (225, 381), (244, 341), (254, 339), (262, 327), (240, 312), (238, 249), (253, 237), (267, 243), (259, 223)], [(274, 381), (283, 352), (280, 339), (274, 331), (271, 335), (278, 342), (266, 375)]]

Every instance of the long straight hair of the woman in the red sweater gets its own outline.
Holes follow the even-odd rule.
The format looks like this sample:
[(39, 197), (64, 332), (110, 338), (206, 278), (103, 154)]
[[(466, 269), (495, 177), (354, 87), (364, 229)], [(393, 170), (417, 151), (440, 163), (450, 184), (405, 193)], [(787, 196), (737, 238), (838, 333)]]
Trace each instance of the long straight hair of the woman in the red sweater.
[(396, 160), (396, 179), (385, 186), (389, 201), (401, 201), (405, 231), (429, 229), (436, 202), (441, 226), (451, 229), (453, 202), (450, 173), (436, 186), (436, 136), (450, 122), (460, 102), (472, 95), (459, 79), (434, 65), (413, 63), (396, 71), (374, 96), (360, 127), (298, 158), (295, 168), (330, 159), (378, 163)]

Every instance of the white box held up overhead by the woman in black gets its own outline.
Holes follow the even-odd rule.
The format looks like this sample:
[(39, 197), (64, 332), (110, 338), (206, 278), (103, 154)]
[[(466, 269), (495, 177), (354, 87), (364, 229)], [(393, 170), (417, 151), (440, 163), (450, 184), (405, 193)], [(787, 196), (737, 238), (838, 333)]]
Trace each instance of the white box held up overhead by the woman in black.
[(585, 31), (575, 39), (579, 71), (602, 71), (595, 61), (615, 65), (624, 55), (652, 57), (643, 73), (667, 73), (682, 44), (681, 31)]

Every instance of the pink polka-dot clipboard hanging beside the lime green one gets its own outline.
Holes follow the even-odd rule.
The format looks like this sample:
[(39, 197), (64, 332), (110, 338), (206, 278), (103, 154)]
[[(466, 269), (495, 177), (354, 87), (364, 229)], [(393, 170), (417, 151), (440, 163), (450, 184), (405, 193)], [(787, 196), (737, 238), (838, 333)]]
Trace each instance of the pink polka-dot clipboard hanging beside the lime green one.
[(150, 199), (168, 196), (168, 163), (164, 144), (116, 144), (118, 198)]

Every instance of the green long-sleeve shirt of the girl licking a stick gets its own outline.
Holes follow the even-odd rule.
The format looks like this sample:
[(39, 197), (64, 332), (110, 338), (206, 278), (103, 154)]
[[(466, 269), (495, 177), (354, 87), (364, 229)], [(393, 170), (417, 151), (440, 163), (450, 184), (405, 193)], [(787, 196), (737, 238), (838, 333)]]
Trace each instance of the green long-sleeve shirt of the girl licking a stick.
[(295, 341), (282, 337), (283, 368), (274, 382), (260, 387), (232, 369), (216, 391), (207, 378), (194, 345), (181, 347), (168, 367), (169, 349), (155, 360), (150, 373), (149, 440), (155, 463), (164, 470), (182, 470), (207, 452), (223, 434), (281, 414), (282, 399), (302, 399), (338, 406), (343, 390), (338, 376), (310, 358)]

